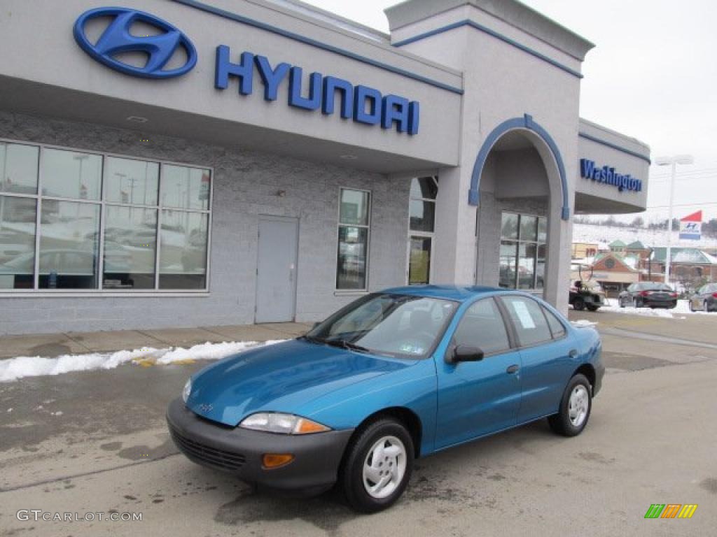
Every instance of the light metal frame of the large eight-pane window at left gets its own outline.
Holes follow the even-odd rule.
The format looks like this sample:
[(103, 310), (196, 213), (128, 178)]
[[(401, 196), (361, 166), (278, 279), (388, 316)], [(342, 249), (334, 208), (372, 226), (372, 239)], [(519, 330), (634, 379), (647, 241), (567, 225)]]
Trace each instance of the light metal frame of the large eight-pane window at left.
[[(72, 146), (65, 146), (65, 145), (56, 145), (56, 144), (47, 144), (47, 143), (41, 143), (41, 142), (31, 142), (28, 140), (16, 140), (12, 138), (4, 138), (0, 137), (0, 143), (6, 143), (6, 144), (19, 144), (19, 145), (31, 145), (34, 147), (37, 147), (39, 149), (38, 151), (38, 169), (37, 169), (37, 192), (35, 194), (23, 194), (23, 193), (0, 193), (2, 196), (7, 196), (11, 198), (29, 198), (34, 199), (36, 201), (36, 221), (35, 221), (35, 241), (34, 241), (34, 276), (33, 276), (33, 289), (4, 289), (0, 290), (0, 298), (16, 298), (18, 296), (32, 296), (32, 297), (87, 297), (87, 296), (123, 296), (123, 297), (129, 297), (129, 296), (138, 296), (138, 297), (152, 297), (152, 296), (209, 296), (209, 292), (211, 289), (211, 258), (212, 258), (212, 205), (214, 204), (214, 167), (208, 166), (208, 165), (197, 165), (197, 164), (191, 164), (191, 163), (181, 163), (174, 160), (166, 160), (162, 158), (146, 158), (146, 157), (138, 157), (135, 155), (126, 155), (122, 153), (112, 153), (108, 151), (98, 151), (98, 150), (87, 150), (83, 149), (81, 147), (72, 147)], [(45, 150), (61, 150), (61, 151), (70, 151), (74, 153), (84, 153), (87, 155), (98, 155), (102, 159), (102, 175), (101, 175), (101, 182), (100, 182), (100, 198), (98, 200), (83, 200), (80, 198), (64, 198), (59, 196), (52, 196), (52, 195), (42, 195), (42, 180), (43, 180), (43, 155)], [(159, 166), (159, 175), (158, 175), (158, 193), (157, 193), (157, 205), (140, 205), (135, 203), (118, 203), (114, 201), (107, 201), (105, 200), (105, 168), (106, 168), (106, 158), (120, 158), (125, 160), (137, 160), (141, 162), (148, 162), (148, 163), (156, 163)], [(209, 170), (210, 173), (210, 180), (209, 180), (209, 199), (207, 200), (207, 208), (206, 209), (179, 209), (179, 208), (164, 208), (161, 205), (161, 190), (163, 188), (162, 185), (162, 178), (163, 178), (163, 170), (164, 165), (175, 165), (175, 166), (181, 166), (183, 168), (194, 168), (196, 170)], [(42, 235), (42, 227), (41, 227), (41, 220), (42, 220), (42, 202), (43, 200), (50, 200), (50, 201), (69, 201), (69, 202), (76, 202), (76, 203), (88, 203), (90, 205), (99, 205), (100, 206), (100, 228), (98, 232), (100, 233), (100, 240), (99, 240), (99, 251), (98, 251), (98, 263), (97, 263), (97, 269), (98, 269), (98, 287), (96, 289), (40, 289), (39, 288), (39, 243), (40, 243), (40, 237)], [(155, 283), (154, 283), (154, 289), (141, 289), (137, 291), (114, 291), (112, 289), (104, 289), (103, 288), (103, 271), (104, 271), (104, 246), (105, 246), (105, 208), (106, 205), (115, 205), (115, 206), (122, 206), (122, 207), (136, 207), (136, 208), (146, 208), (146, 209), (155, 209), (157, 214), (157, 231), (156, 231), (156, 258), (155, 258)], [(162, 211), (186, 211), (189, 213), (203, 213), (208, 215), (208, 221), (207, 221), (207, 238), (206, 238), (206, 280), (204, 284), (204, 288), (202, 289), (159, 289), (159, 256), (160, 256), (160, 238), (161, 238), (161, 212)]]

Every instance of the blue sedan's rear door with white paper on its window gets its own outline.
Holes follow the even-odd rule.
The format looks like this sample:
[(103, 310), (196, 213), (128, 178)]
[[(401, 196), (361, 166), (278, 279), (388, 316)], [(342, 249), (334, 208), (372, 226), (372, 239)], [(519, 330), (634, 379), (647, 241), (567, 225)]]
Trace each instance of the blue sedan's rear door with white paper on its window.
[(518, 423), (554, 414), (577, 367), (578, 354), (564, 321), (527, 296), (503, 296), (500, 300), (520, 347), (523, 395)]

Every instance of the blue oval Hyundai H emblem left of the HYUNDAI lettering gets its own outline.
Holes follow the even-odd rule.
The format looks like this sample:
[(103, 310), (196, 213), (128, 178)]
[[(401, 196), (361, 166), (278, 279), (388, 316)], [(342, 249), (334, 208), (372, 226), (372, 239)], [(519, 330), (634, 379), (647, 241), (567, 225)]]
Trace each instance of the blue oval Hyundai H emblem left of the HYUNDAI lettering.
[[(85, 26), (92, 19), (109, 18), (110, 24), (94, 44), (87, 39)], [(130, 33), (133, 24), (142, 23), (153, 27), (156, 35), (137, 36)], [(189, 38), (175, 26), (158, 17), (121, 7), (100, 7), (85, 11), (75, 22), (75, 41), (82, 50), (98, 62), (124, 74), (143, 78), (171, 78), (185, 74), (196, 64), (196, 49)], [(179, 49), (184, 49), (186, 62), (181, 67), (164, 69)], [(143, 52), (147, 62), (143, 67), (118, 59), (125, 52)]]

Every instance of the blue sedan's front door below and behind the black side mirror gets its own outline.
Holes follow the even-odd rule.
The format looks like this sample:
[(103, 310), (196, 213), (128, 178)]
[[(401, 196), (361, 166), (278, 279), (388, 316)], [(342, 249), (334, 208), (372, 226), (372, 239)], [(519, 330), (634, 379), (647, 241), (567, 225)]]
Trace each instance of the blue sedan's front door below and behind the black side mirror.
[(480, 299), (465, 310), (447, 352), (457, 345), (480, 347), (485, 357), (459, 364), (447, 364), (444, 357), (437, 359), (439, 449), (512, 427), (521, 400), (517, 374), (521, 356), (511, 347), (493, 298)]

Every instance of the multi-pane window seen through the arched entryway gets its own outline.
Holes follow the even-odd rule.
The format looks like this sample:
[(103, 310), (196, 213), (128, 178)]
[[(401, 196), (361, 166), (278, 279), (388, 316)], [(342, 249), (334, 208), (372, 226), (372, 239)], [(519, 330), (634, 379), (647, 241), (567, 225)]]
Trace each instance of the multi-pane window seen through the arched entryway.
[(503, 213), (498, 280), (501, 287), (543, 289), (546, 238), (546, 218)]

